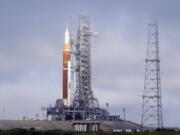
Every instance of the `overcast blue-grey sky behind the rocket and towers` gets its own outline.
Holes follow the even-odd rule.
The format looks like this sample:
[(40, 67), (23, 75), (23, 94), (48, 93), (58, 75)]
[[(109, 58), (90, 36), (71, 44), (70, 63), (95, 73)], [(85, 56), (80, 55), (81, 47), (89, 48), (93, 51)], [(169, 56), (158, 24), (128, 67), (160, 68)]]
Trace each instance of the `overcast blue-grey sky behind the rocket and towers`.
[(147, 22), (159, 23), (163, 117), (180, 126), (179, 0), (0, 0), (0, 119), (35, 117), (62, 93), (65, 23), (90, 16), (92, 88), (112, 114), (140, 122)]

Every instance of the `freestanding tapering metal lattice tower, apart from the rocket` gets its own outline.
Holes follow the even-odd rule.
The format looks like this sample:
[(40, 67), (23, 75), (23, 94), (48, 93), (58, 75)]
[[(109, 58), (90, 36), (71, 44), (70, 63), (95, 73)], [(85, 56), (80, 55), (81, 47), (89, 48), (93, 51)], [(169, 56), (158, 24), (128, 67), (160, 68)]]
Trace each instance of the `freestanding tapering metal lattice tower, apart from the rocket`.
[(147, 43), (146, 69), (143, 92), (142, 126), (162, 128), (162, 101), (158, 25), (150, 23)]

